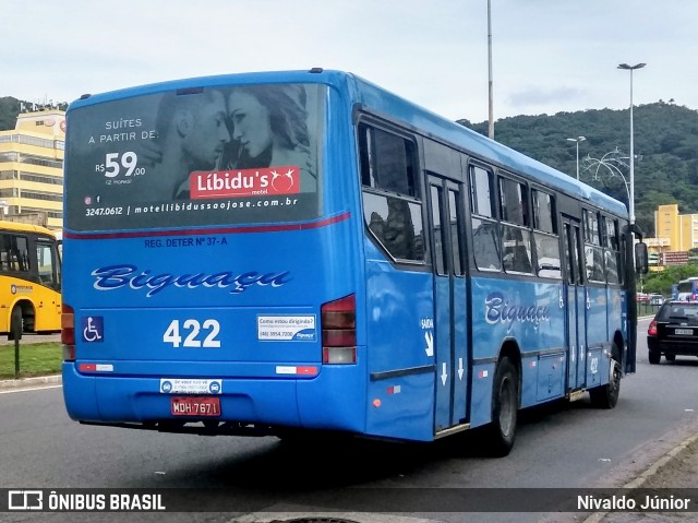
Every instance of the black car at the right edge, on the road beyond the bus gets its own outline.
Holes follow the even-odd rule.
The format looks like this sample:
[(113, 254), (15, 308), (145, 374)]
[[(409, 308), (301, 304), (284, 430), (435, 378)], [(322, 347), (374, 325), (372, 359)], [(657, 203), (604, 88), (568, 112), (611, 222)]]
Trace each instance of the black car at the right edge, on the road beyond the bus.
[(698, 356), (698, 301), (666, 301), (647, 330), (650, 364)]

